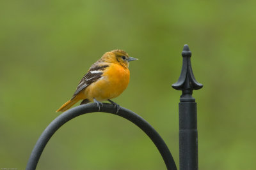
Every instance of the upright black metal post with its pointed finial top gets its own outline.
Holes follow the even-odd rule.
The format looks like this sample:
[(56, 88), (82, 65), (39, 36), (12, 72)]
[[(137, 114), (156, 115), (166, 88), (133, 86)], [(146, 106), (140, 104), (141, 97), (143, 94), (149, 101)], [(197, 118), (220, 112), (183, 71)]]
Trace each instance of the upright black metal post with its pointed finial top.
[(198, 170), (196, 102), (192, 93), (203, 85), (198, 83), (193, 75), (188, 45), (184, 45), (182, 57), (179, 80), (172, 85), (174, 89), (182, 90), (179, 103), (180, 170)]

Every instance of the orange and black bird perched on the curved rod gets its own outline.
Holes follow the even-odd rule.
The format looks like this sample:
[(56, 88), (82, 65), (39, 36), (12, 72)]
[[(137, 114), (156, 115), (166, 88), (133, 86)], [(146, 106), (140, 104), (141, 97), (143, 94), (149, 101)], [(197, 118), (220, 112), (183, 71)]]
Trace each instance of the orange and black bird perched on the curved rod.
[(129, 62), (132, 60), (138, 59), (129, 57), (123, 50), (104, 53), (83, 76), (72, 98), (57, 111), (66, 111), (80, 100), (83, 100), (81, 104), (94, 102), (100, 110), (101, 102), (108, 100), (117, 108), (117, 113), (120, 106), (110, 99), (126, 89), (130, 80)]

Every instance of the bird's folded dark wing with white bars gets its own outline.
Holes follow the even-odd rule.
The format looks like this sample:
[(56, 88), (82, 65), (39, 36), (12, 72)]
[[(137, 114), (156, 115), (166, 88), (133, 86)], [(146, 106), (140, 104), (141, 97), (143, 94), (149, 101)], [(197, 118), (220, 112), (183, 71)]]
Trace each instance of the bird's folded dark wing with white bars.
[(88, 87), (88, 85), (99, 80), (102, 77), (101, 75), (103, 74), (103, 71), (104, 69), (106, 69), (106, 67), (108, 67), (108, 65), (97, 66), (93, 64), (93, 66), (90, 67), (88, 73), (86, 73), (83, 76), (83, 78), (80, 80), (79, 84), (77, 85), (76, 92), (74, 92), (72, 99), (76, 97), (77, 94), (79, 94), (79, 92), (81, 92), (86, 87)]

